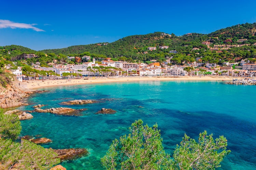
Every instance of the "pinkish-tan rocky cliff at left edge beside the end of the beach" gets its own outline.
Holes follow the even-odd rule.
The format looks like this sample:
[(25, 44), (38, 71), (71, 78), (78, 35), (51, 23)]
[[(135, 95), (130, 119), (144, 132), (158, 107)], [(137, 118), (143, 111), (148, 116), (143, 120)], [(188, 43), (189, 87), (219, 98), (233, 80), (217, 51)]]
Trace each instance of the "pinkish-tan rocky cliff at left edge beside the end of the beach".
[(31, 93), (31, 91), (21, 90), (12, 84), (6, 88), (0, 86), (0, 107), (9, 108), (28, 105), (27, 103), (20, 102), (20, 100), (28, 97)]

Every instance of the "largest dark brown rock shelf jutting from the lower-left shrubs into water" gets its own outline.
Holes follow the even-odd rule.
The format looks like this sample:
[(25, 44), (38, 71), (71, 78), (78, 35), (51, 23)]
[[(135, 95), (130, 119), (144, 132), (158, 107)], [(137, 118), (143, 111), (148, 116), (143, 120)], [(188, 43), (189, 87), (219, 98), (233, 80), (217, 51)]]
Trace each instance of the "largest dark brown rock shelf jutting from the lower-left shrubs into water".
[(54, 152), (58, 154), (58, 158), (60, 160), (72, 160), (79, 157), (82, 157), (86, 154), (88, 154), (88, 151), (86, 149), (54, 149)]

